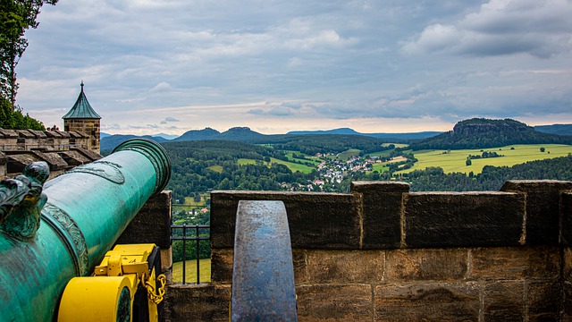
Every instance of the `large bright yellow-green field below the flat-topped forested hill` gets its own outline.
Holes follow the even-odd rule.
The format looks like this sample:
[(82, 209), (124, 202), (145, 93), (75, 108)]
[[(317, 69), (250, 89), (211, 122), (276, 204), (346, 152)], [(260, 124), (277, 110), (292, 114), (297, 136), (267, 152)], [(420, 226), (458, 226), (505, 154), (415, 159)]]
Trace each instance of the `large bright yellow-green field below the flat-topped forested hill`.
[[(545, 152), (541, 152), (540, 148), (545, 148)], [(481, 155), (482, 151), (494, 151), (499, 155), (504, 155), (504, 157), (473, 159), (471, 160), (472, 165), (465, 164), (468, 155)], [(409, 173), (413, 170), (422, 170), (430, 166), (441, 166), (446, 174), (454, 172), (468, 174), (471, 171), (474, 174), (480, 174), (484, 165), (512, 166), (523, 164), (527, 161), (566, 157), (569, 153), (572, 153), (572, 146), (562, 144), (527, 144), (502, 148), (416, 151), (415, 157), (419, 161), (412, 168), (399, 173)]]

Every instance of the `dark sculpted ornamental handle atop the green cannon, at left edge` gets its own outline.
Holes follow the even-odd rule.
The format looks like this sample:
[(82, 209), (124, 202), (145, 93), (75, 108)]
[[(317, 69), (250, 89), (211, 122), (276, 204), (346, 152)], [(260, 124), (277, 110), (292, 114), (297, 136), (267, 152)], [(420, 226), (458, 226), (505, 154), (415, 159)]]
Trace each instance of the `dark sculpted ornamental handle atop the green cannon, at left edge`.
[(46, 162), (40, 161), (0, 182), (0, 231), (20, 240), (36, 236), (40, 211), (47, 200), (43, 185), (49, 174)]

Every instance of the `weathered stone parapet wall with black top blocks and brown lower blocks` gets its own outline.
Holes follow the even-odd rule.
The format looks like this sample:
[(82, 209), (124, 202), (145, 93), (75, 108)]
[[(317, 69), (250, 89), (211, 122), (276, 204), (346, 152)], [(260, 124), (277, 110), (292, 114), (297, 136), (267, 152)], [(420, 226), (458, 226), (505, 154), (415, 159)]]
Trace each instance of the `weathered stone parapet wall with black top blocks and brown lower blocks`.
[(570, 320), (572, 182), (501, 191), (213, 191), (210, 284), (172, 284), (170, 321), (226, 321), (240, 199), (286, 206), (300, 321)]

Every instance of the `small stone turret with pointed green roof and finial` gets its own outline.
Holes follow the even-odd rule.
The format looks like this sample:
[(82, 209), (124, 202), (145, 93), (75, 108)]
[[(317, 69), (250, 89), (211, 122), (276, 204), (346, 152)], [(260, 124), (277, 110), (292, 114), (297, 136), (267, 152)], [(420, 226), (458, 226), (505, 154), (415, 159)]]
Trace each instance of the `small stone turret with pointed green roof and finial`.
[(89, 105), (88, 97), (83, 92), (83, 80), (81, 80), (81, 92), (71, 110), (62, 116), (63, 131), (80, 131), (89, 135), (88, 149), (99, 153), (99, 125), (101, 116)]

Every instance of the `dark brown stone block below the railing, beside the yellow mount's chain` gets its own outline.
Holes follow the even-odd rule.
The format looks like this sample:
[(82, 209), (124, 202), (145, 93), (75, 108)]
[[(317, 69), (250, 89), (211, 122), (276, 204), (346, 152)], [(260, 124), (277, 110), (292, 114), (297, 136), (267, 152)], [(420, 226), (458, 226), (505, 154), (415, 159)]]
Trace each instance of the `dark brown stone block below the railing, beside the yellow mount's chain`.
[(227, 322), (231, 302), (231, 285), (168, 285), (165, 301), (167, 321)]

